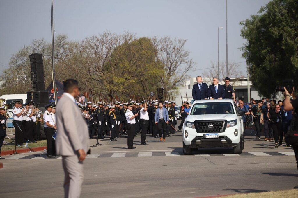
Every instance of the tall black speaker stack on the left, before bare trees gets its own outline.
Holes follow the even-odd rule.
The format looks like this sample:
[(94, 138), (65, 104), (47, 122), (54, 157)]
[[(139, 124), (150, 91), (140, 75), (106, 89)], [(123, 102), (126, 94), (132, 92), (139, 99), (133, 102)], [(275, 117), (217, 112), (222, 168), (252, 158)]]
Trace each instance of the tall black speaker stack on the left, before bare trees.
[(27, 99), (28, 101), (32, 99), (34, 104), (45, 105), (49, 103), (49, 94), (44, 91), (44, 61), (42, 54), (31, 54), (29, 58), (33, 92), (32, 94), (31, 92), (27, 93)]

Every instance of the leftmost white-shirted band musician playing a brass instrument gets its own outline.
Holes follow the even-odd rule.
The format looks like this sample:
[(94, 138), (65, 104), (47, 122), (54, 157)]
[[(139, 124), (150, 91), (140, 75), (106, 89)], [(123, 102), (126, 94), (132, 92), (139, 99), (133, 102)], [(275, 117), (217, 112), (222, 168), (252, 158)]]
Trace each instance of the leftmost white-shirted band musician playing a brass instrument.
[(23, 121), (23, 113), (25, 109), (20, 109), (19, 104), (21, 101), (15, 101), (15, 104), (13, 106), (13, 125), (15, 127), (15, 144), (20, 146), (23, 145), (24, 138), (23, 138), (23, 132), (24, 128), (22, 125)]

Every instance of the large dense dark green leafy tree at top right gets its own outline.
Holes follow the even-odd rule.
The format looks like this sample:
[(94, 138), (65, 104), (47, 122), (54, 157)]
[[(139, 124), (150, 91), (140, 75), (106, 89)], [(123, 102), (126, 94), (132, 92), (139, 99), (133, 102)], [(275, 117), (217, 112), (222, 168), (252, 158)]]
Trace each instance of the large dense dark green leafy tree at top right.
[(298, 82), (298, 2), (273, 0), (257, 15), (240, 22), (241, 48), (250, 79), (260, 95), (274, 97), (275, 86), (291, 78)]

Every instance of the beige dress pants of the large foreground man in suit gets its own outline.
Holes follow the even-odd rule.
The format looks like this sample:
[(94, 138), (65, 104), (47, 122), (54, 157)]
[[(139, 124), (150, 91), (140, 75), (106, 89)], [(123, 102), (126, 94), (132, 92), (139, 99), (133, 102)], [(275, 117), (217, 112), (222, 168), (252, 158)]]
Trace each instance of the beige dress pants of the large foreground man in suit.
[(78, 155), (62, 156), (64, 170), (64, 197), (80, 197), (84, 180), (83, 162), (79, 161)]

